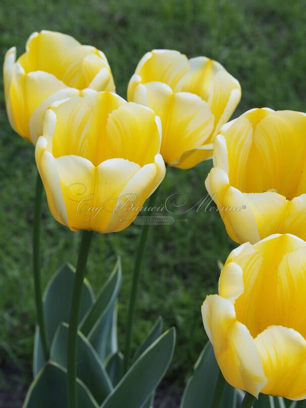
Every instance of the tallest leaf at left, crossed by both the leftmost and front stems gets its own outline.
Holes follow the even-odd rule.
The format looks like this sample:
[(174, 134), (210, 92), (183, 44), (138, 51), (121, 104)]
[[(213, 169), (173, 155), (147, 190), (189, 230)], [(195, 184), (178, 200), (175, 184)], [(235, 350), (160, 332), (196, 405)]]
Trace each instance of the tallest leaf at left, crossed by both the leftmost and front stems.
[[(75, 269), (71, 265), (65, 264), (50, 279), (44, 291), (43, 311), (49, 345), (52, 343), (59, 325), (62, 322), (69, 322), (74, 276)], [(94, 294), (92, 288), (85, 279), (80, 303), (79, 322), (83, 319), (89, 308), (91, 308), (93, 302)], [(39, 331), (36, 331), (33, 355), (33, 372), (35, 376), (45, 363), (41, 352)]]

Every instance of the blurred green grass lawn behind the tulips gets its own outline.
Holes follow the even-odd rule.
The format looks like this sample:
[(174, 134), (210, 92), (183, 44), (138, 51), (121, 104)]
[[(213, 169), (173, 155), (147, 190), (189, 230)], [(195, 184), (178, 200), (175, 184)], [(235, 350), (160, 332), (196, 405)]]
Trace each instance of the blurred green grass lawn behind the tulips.
[[(62, 31), (103, 50), (117, 92), (126, 88), (138, 60), (152, 48), (173, 48), (188, 57), (221, 62), (241, 83), (242, 100), (234, 116), (253, 107), (305, 111), (306, 3), (292, 0), (2, 0), (0, 53), (16, 45), (20, 55), (32, 31)], [(2, 84), (1, 84), (2, 85)], [(211, 162), (190, 171), (168, 169), (158, 202), (173, 193), (187, 195), (191, 208), (206, 194), (203, 181)], [(33, 147), (9, 126), (0, 96), (0, 364), (1, 385), (8, 367), (21, 386), (31, 379), (35, 322), (31, 275), (31, 233), (36, 168)], [(177, 346), (167, 374), (172, 388), (183, 386), (206, 335), (200, 304), (216, 291), (219, 268), (235, 246), (218, 213), (189, 211), (188, 222), (151, 228), (143, 262), (133, 348), (161, 314), (177, 327)], [(124, 344), (131, 274), (139, 228), (97, 235), (88, 278), (97, 292), (122, 256), (119, 341)], [(64, 262), (76, 263), (79, 234), (50, 216), (42, 223), (43, 285)], [(14, 369), (15, 370), (15, 369)], [(20, 374), (21, 373), (21, 374)], [(16, 390), (14, 390), (16, 392)], [(166, 406), (166, 405), (165, 405)]]

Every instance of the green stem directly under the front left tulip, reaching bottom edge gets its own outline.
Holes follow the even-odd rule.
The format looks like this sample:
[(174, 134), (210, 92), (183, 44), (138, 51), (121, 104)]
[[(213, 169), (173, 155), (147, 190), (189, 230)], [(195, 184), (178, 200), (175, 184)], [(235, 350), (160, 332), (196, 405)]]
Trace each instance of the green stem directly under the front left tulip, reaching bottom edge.
[(76, 351), (77, 351), (77, 334), (78, 321), (80, 311), (80, 300), (83, 289), (83, 281), (85, 277), (85, 268), (88, 258), (90, 242), (92, 238), (92, 231), (83, 231), (82, 240), (79, 250), (78, 262), (75, 271), (73, 294), (70, 310), (69, 320), (69, 334), (68, 334), (68, 407), (77, 408), (77, 394), (76, 394)]

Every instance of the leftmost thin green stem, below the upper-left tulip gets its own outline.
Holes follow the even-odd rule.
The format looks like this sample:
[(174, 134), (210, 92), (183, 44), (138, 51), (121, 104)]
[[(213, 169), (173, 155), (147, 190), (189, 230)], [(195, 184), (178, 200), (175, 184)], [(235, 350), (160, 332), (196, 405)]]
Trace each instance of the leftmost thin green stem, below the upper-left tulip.
[(34, 276), (34, 291), (36, 304), (36, 319), (39, 327), (42, 350), (45, 360), (49, 358), (49, 346), (46, 334), (46, 326), (43, 314), (41, 279), (40, 279), (40, 219), (41, 219), (41, 198), (42, 198), (42, 182), (39, 173), (37, 172), (36, 189), (35, 189), (35, 210), (34, 210), (34, 230), (33, 230), (33, 276)]

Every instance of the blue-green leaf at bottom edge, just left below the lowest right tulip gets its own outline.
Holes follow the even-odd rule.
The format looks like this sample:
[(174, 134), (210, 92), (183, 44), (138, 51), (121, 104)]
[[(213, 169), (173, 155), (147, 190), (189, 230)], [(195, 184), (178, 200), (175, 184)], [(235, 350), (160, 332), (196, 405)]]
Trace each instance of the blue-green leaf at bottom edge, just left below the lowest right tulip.
[[(219, 375), (222, 374), (216, 362), (212, 344), (208, 342), (194, 365), (194, 372), (187, 382), (180, 408), (211, 407)], [(233, 408), (236, 406), (236, 401), (235, 388), (226, 384), (220, 406)]]

